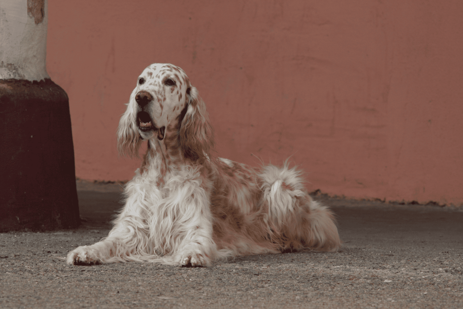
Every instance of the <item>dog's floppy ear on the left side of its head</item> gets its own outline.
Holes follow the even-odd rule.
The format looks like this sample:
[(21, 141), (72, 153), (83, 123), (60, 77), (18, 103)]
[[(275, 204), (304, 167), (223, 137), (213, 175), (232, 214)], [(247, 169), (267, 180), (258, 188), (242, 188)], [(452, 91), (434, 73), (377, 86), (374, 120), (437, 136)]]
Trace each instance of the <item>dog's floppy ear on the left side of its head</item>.
[(138, 149), (140, 148), (142, 139), (137, 130), (137, 113), (131, 111), (130, 103), (127, 105), (127, 110), (119, 120), (117, 148), (121, 156), (138, 158)]

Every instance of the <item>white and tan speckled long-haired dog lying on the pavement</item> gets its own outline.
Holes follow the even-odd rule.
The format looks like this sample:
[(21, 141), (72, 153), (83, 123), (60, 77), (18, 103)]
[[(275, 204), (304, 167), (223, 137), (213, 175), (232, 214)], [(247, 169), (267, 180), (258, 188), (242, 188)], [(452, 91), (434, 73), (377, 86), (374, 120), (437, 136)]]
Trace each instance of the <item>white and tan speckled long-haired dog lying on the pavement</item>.
[(151, 64), (138, 77), (118, 128), (119, 154), (143, 163), (103, 240), (67, 263), (116, 261), (210, 266), (239, 255), (340, 246), (332, 212), (307, 194), (300, 171), (217, 158), (206, 105), (185, 72)]

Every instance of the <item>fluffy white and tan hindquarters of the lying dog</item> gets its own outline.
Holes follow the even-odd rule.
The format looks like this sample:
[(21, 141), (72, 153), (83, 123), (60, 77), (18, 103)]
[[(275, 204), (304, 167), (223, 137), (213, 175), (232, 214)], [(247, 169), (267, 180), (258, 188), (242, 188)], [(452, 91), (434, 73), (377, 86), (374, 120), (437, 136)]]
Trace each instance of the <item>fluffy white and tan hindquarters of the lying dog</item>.
[(282, 251), (304, 248), (337, 251), (341, 241), (334, 215), (307, 194), (300, 174), (287, 164), (268, 165), (260, 174), (271, 239), (281, 244)]

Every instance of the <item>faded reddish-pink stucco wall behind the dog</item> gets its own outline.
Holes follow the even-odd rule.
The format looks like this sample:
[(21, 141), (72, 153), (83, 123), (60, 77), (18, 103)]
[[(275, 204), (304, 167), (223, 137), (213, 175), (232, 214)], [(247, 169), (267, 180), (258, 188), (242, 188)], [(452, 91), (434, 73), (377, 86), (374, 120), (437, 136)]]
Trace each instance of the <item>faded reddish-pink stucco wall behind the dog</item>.
[(130, 179), (116, 128), (138, 74), (180, 66), (220, 156), (288, 156), (307, 188), (463, 203), (463, 2), (49, 0), (47, 69), (69, 95), (76, 176)]

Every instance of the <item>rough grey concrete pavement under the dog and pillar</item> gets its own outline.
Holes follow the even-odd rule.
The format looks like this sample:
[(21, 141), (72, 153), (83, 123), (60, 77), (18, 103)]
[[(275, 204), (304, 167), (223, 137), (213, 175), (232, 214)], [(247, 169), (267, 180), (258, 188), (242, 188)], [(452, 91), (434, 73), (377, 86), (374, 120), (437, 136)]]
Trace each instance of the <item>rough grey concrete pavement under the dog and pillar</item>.
[(338, 215), (338, 253), (66, 266), (107, 234), (118, 188), (78, 185), (79, 229), (0, 234), (0, 308), (463, 308), (463, 212), (432, 206), (319, 197)]

